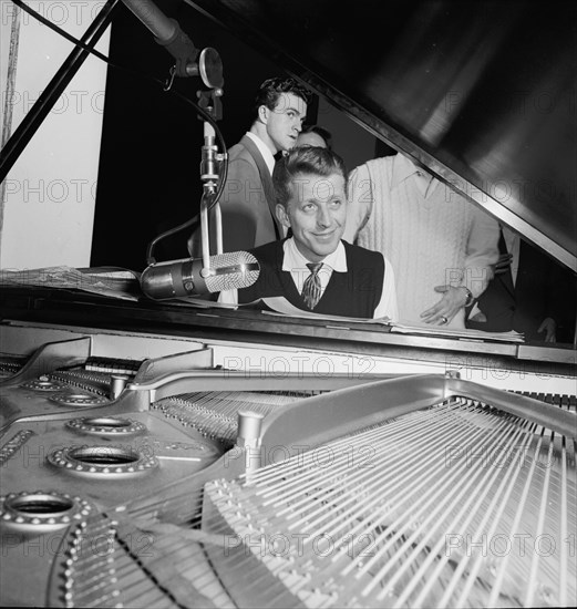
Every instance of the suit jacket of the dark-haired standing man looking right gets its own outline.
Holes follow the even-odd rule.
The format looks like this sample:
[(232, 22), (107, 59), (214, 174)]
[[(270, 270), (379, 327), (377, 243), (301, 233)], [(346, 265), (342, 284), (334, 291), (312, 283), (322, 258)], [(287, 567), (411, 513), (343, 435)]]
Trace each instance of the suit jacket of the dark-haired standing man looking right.
[[(228, 175), (220, 196), (224, 251), (253, 249), (282, 236), (275, 216), (275, 190), (268, 167), (248, 136), (228, 151)], [(209, 215), (210, 254), (216, 252), (215, 216)], [(193, 257), (202, 256), (200, 228), (188, 240)]]

